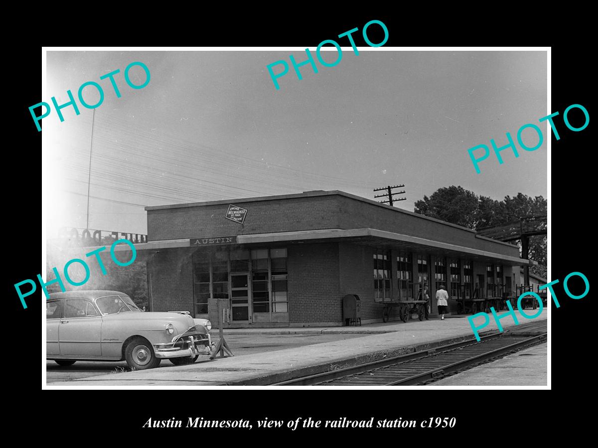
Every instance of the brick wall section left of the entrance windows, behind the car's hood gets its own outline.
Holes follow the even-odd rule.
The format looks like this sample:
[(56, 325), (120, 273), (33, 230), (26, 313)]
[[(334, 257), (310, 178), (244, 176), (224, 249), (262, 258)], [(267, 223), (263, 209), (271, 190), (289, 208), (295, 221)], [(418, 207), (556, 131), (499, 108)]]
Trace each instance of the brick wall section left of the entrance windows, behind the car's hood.
[[(161, 250), (148, 256), (151, 311), (189, 311), (193, 305), (193, 263), (189, 249)], [(148, 284), (149, 289), (149, 284)]]

